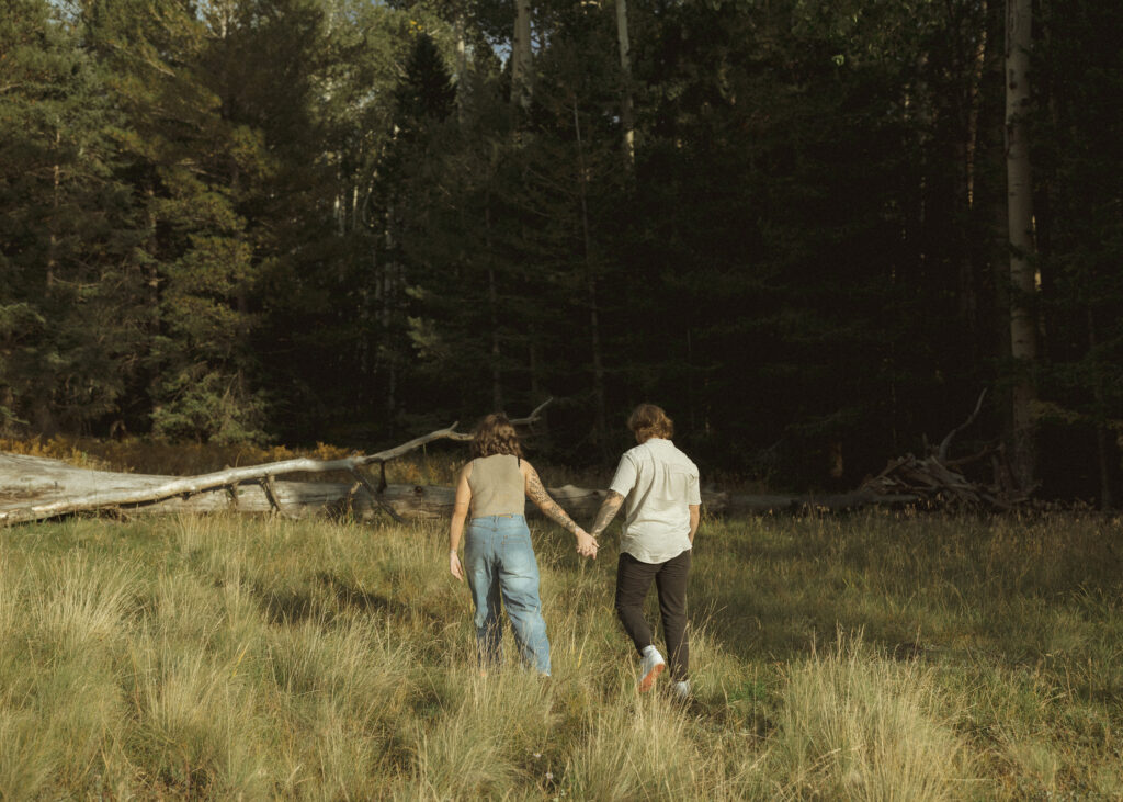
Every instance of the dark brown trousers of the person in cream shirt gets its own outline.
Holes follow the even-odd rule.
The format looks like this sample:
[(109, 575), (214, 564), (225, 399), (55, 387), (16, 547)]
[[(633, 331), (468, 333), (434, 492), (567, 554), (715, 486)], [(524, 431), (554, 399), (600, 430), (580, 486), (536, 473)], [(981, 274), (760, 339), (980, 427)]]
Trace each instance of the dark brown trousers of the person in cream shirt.
[(691, 550), (686, 549), (666, 563), (642, 563), (621, 552), (617, 564), (617, 616), (624, 631), (642, 654), (651, 645), (651, 627), (643, 618), (643, 600), (655, 580), (663, 618), (663, 637), (667, 641), (670, 676), (676, 682), (686, 678), (690, 645), (686, 637), (686, 578), (691, 571)]

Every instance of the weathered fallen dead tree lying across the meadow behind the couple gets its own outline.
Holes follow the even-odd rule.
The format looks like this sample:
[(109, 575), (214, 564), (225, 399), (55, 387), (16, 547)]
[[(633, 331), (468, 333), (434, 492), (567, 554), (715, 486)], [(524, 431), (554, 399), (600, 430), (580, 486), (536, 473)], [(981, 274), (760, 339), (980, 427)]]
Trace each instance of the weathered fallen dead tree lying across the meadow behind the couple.
[[(982, 397), (979, 403), (982, 403)], [(530, 426), (549, 401), (530, 416), (512, 422)], [(978, 405), (965, 426), (978, 414)], [(394, 520), (447, 518), (453, 487), (389, 484), (387, 462), (441, 439), (469, 440), (456, 425), (437, 429), (377, 454), (344, 459), (311, 458), (227, 468), (200, 476), (159, 476), (90, 471), (57, 459), (0, 454), (0, 525), (26, 523), (81, 512), (259, 512), (286, 518), (353, 516), (371, 519), (387, 514)], [(940, 447), (947, 453), (951, 435)], [(869, 505), (1006, 507), (1012, 503), (994, 489), (982, 489), (944, 464), (940, 455), (891, 461), (885, 471), (866, 480), (855, 492), (829, 495), (738, 495), (705, 491), (707, 513), (784, 513), (844, 511)], [(378, 466), (377, 485), (363, 470)], [(345, 474), (349, 482), (292, 481), (300, 474)], [(565, 485), (549, 489), (557, 502), (578, 522), (592, 520), (604, 499), (602, 490)], [(528, 505), (528, 514), (537, 514)]]

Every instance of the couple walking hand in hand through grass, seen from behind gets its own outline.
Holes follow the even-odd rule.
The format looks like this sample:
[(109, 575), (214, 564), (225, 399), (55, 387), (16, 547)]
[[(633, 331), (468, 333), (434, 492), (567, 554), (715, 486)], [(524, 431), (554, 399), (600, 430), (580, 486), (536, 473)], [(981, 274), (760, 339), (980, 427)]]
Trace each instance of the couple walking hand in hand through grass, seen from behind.
[[(643, 403), (628, 419), (637, 446), (620, 458), (592, 530), (574, 522), (542, 486), (522, 456), (514, 427), (503, 414), (484, 418), (473, 435), (473, 459), (460, 471), (449, 526), (449, 571), (468, 580), (475, 603), (482, 668), (500, 658), (500, 600), (523, 662), (550, 673), (550, 644), (538, 596), (538, 563), (523, 517), (526, 499), (577, 539), (577, 554), (596, 557), (597, 536), (627, 504), (617, 565), (615, 610), (640, 655), (638, 687), (648, 691), (667, 667), (652, 642), (643, 600), (655, 582), (673, 690), (690, 694), (686, 580), (702, 499), (699, 471), (672, 443), (674, 425), (659, 407)], [(465, 526), (467, 521), (467, 526)], [(464, 536), (464, 562), (458, 554)]]

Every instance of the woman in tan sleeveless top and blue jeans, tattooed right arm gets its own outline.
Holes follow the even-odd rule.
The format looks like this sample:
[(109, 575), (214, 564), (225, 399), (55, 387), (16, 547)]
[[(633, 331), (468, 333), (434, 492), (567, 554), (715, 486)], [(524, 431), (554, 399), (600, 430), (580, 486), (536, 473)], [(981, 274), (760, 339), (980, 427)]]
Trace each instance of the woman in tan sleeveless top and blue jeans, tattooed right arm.
[[(502, 599), (523, 662), (548, 676), (550, 644), (538, 598), (538, 563), (523, 517), (526, 499), (573, 532), (577, 554), (595, 557), (596, 541), (542, 487), (538, 472), (523, 459), (519, 436), (506, 416), (489, 414), (480, 421), (472, 438), (472, 456), (456, 484), (448, 567), (457, 580), (468, 577), (476, 605), (481, 668), (494, 666), (500, 659)], [(462, 532), (463, 564), (458, 555)]]

